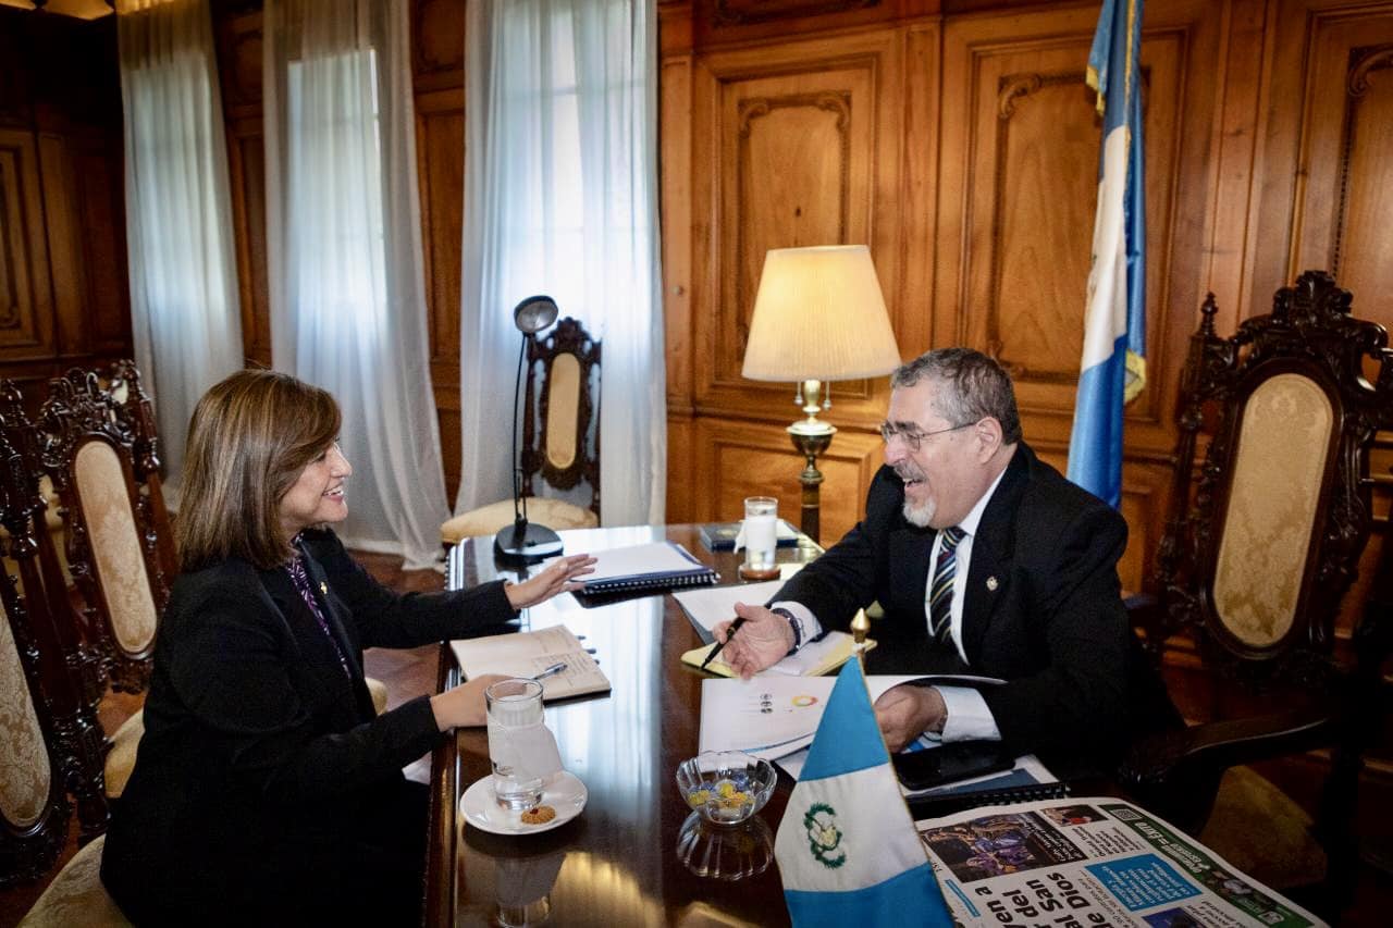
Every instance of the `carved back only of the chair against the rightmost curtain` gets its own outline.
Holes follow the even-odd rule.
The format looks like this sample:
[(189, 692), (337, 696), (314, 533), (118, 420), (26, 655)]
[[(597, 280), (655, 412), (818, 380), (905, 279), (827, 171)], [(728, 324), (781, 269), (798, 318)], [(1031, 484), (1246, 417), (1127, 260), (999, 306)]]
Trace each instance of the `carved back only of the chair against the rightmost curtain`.
[[(581, 481), (592, 488), (591, 510), (600, 511), (600, 435), (592, 432), (600, 343), (567, 316), (545, 339), (528, 343), (527, 405), (522, 418), (522, 492), (532, 495), (540, 475), (557, 489)], [(534, 415), (536, 411), (536, 415)], [(593, 435), (593, 440), (592, 440)]]

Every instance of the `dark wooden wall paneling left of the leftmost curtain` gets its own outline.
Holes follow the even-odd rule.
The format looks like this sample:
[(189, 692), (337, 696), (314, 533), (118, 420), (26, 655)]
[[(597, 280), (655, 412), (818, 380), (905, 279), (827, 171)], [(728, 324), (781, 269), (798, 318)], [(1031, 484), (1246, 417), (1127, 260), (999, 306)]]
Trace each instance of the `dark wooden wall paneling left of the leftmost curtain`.
[(116, 26), (7, 11), (0, 33), (0, 373), (38, 393), (131, 353)]

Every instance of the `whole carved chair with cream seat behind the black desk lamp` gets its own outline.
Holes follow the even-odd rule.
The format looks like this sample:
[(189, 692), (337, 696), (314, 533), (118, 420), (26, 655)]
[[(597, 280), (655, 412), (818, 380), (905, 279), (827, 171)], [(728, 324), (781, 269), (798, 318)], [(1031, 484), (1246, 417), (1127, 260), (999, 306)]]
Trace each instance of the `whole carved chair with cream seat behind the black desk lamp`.
[[(547, 337), (528, 344), (522, 495), (528, 518), (547, 528), (600, 524), (600, 438), (598, 424), (591, 428), (596, 422), (599, 366), (600, 343), (571, 318), (561, 319)], [(560, 490), (574, 489), (582, 481), (589, 484), (589, 506), (535, 496), (538, 479)], [(464, 538), (493, 535), (511, 524), (513, 500), (507, 499), (449, 520), (440, 527), (440, 542), (456, 545)]]

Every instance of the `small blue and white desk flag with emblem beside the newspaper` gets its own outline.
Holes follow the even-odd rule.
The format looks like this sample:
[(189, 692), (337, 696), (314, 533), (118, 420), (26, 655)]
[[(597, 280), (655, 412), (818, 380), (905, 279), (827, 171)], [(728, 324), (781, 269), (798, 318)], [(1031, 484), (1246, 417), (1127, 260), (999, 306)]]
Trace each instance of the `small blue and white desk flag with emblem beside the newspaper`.
[(775, 856), (795, 927), (951, 925), (880, 737), (861, 662), (837, 676)]

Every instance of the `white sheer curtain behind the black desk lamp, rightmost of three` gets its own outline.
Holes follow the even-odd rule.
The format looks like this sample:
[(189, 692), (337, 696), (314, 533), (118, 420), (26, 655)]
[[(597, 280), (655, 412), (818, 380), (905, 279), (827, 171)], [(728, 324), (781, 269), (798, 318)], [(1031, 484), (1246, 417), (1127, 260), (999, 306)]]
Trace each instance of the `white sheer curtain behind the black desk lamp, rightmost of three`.
[(651, 0), (468, 6), (457, 511), (511, 495), (511, 311), (546, 293), (605, 343), (603, 523), (663, 521), (655, 17)]

